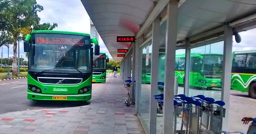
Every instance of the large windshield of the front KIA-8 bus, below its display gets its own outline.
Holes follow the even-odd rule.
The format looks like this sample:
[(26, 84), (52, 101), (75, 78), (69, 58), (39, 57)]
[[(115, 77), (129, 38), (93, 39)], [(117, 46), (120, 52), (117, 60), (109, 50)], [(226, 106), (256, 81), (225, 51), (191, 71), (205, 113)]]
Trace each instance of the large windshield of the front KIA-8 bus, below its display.
[(32, 44), (29, 54), (29, 70), (73, 69), (79, 72), (91, 70), (90, 45)]

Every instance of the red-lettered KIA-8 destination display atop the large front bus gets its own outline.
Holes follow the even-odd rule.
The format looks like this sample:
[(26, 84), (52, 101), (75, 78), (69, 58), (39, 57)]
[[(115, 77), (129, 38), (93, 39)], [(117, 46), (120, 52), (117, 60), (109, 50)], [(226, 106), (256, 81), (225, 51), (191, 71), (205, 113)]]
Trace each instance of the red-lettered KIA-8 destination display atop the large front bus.
[(35, 34), (35, 44), (85, 45), (90, 44), (89, 38), (69, 34)]

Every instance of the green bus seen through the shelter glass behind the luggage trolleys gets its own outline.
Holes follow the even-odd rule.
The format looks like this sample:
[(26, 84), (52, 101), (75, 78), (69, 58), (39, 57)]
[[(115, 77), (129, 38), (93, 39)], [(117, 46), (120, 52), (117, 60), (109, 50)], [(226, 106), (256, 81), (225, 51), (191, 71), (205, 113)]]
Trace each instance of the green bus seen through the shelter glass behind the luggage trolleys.
[[(223, 54), (190, 54), (189, 85), (198, 89), (221, 87)], [(175, 56), (175, 76), (184, 84), (185, 54)]]

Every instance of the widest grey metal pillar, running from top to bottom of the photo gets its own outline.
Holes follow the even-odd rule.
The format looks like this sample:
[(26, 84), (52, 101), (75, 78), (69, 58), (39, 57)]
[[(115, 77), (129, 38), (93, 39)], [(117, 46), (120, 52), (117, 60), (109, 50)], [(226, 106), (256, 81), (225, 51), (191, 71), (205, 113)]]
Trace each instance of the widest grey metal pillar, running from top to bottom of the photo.
[(164, 98), (162, 134), (173, 134), (173, 96), (175, 74), (175, 50), (177, 39), (178, 0), (170, 0), (167, 4)]

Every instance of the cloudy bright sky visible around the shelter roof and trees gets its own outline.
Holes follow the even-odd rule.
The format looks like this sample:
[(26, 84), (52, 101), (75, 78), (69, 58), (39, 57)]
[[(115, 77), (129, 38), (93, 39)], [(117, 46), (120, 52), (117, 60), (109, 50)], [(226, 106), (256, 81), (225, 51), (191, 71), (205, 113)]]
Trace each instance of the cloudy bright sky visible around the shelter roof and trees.
[[(90, 18), (84, 9), (80, 0), (36, 0), (38, 4), (43, 6), (43, 10), (38, 13), (38, 16), (41, 18), (40, 23), (49, 22), (57, 23), (58, 27), (54, 30), (65, 30), (65, 31), (75, 31), (90, 33)], [(251, 29), (248, 31), (240, 32), (241, 42), (236, 43), (233, 37), (233, 51), (242, 51), (242, 50), (255, 50), (256, 41), (254, 39), (256, 35), (256, 29)], [(108, 54), (111, 58), (107, 48), (104, 45), (104, 42), (99, 37), (100, 51)], [(214, 44), (214, 47), (211, 48), (211, 53), (219, 52), (223, 50), (223, 43)], [(213, 44), (212, 44), (213, 45)], [(9, 57), (13, 56), (12, 45), (9, 47)], [(209, 46), (206, 46), (208, 49)], [(3, 46), (2, 57), (7, 58), (7, 47)], [(192, 51), (192, 50), (191, 50)], [(202, 52), (203, 49), (195, 49), (195, 52)], [(1, 49), (0, 49), (1, 52)], [(23, 42), (20, 42), (20, 57), (25, 57), (23, 51)], [(183, 50), (177, 51), (182, 53)], [(27, 60), (26, 58), (24, 58)]]

